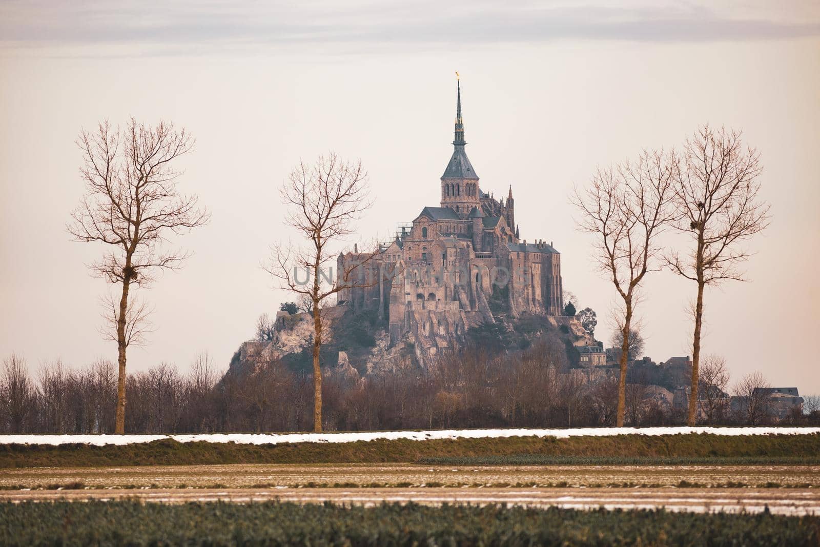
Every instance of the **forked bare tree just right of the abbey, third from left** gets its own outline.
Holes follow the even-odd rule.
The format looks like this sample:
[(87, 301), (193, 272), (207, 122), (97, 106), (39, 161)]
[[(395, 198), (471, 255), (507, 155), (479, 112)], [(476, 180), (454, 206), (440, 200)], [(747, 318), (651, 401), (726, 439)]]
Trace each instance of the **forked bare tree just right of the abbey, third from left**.
[(594, 259), (622, 299), (621, 374), (618, 380), (616, 424), (623, 426), (626, 400), (626, 362), (637, 290), (660, 253), (658, 235), (672, 220), (672, 183), (678, 171), (674, 153), (643, 152), (635, 162), (594, 175), (592, 184), (576, 189), (573, 203), (581, 212), (578, 226), (593, 234)]

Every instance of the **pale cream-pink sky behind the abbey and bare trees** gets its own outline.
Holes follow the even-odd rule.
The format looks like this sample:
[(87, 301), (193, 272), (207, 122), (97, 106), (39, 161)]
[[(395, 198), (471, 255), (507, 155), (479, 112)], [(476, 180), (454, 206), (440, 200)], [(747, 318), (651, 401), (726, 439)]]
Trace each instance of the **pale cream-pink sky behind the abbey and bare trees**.
[[(505, 2), (507, 3), (507, 2)], [(748, 283), (711, 290), (704, 351), (733, 379), (820, 392), (818, 2), (9, 2), (0, 4), (0, 358), (116, 360), (98, 328), (102, 252), (65, 225), (83, 185), (75, 138), (128, 116), (197, 139), (180, 186), (212, 222), (194, 256), (142, 291), (156, 331), (131, 371), (221, 367), (287, 295), (260, 263), (288, 239), (278, 187), (300, 158), (361, 158), (375, 206), (362, 239), (438, 205), (462, 75), (467, 154), (481, 189), (512, 184), (522, 239), (552, 241), (579, 308), (609, 340), (612, 285), (568, 203), (597, 166), (680, 146), (697, 125), (745, 131), (765, 166), (772, 226)], [(389, 6), (389, 7), (388, 7)], [(669, 245), (681, 244), (670, 238)], [(691, 353), (695, 286), (648, 278), (638, 310), (656, 362)]]

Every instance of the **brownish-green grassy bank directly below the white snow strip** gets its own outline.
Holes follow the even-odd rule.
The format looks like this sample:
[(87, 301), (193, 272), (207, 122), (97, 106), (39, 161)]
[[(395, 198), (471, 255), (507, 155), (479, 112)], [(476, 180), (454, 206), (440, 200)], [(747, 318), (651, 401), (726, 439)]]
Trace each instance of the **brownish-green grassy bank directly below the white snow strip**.
[(0, 467), (209, 463), (743, 463), (820, 464), (820, 435), (617, 435), (353, 443), (151, 443), (0, 445)]

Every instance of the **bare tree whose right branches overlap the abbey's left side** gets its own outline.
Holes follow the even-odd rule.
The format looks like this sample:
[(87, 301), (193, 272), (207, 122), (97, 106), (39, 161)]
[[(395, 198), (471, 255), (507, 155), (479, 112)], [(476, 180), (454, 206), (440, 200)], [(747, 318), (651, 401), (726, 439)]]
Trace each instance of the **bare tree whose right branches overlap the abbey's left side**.
[[(340, 290), (365, 286), (378, 280), (354, 280), (353, 270), (379, 253), (359, 253), (355, 267), (332, 275), (330, 248), (353, 234), (353, 221), (371, 207), (367, 173), (361, 162), (346, 162), (330, 153), (313, 165), (299, 162), (280, 191), (289, 207), (285, 222), (308, 240), (303, 248), (276, 244), (266, 270), (280, 280), (283, 289), (310, 300), (313, 316), (313, 429), (321, 431), (321, 363), (324, 341), (323, 303)], [(300, 279), (303, 276), (304, 279)]]

